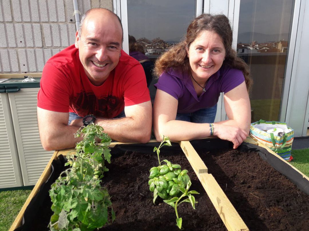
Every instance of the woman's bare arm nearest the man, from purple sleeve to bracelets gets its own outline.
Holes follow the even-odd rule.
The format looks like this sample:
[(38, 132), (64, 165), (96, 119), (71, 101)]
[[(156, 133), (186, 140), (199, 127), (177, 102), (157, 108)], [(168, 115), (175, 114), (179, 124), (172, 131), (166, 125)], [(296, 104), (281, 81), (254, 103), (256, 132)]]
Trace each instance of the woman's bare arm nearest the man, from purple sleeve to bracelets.
[(196, 124), (175, 120), (178, 100), (165, 91), (157, 89), (153, 105), (153, 127), (155, 137), (161, 142), (162, 135), (172, 141), (193, 140), (210, 136), (209, 124)]

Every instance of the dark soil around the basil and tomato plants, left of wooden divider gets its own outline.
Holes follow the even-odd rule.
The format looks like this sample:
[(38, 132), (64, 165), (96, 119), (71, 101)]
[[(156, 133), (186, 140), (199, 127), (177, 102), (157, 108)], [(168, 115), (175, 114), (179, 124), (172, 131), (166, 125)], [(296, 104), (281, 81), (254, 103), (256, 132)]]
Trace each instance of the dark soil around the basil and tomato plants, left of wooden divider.
[[(189, 203), (182, 203), (177, 209), (185, 230), (226, 230), (184, 153), (168, 155), (161, 151), (160, 160), (165, 159), (187, 169), (192, 181), (190, 189), (201, 193), (194, 195), (198, 201), (195, 210)], [(104, 174), (103, 185), (112, 197), (116, 220), (100, 230), (179, 230), (175, 210), (159, 197), (155, 205), (152, 202), (148, 177), (150, 168), (158, 166), (157, 155), (125, 152), (112, 156), (111, 162), (107, 165), (109, 172)]]

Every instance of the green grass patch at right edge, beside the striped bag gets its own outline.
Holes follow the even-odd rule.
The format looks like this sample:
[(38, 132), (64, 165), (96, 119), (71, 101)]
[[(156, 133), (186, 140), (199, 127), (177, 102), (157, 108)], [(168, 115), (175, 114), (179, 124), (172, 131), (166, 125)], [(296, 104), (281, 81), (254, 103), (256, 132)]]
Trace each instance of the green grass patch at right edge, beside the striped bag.
[(293, 160), (290, 164), (309, 177), (309, 148), (292, 150), (291, 154)]

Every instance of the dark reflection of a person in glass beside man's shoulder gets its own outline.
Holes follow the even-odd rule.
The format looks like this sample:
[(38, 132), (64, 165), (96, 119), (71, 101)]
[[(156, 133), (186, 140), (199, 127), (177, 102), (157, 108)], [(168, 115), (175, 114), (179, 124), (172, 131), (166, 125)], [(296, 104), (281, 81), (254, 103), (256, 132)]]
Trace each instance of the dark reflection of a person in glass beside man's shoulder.
[(143, 46), (138, 44), (132, 35), (129, 35), (129, 55), (142, 64), (146, 75), (147, 87), (149, 87), (152, 81), (154, 63), (145, 55)]

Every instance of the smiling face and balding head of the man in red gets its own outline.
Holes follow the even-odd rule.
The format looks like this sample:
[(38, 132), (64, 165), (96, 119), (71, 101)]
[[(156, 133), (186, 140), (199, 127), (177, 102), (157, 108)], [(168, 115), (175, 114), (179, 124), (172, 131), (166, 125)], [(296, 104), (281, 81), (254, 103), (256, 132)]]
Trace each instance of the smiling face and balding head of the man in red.
[(75, 47), (92, 84), (103, 84), (117, 66), (121, 44), (122, 29), (115, 15), (102, 9), (88, 13), (81, 34), (76, 32)]

